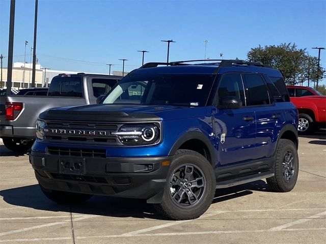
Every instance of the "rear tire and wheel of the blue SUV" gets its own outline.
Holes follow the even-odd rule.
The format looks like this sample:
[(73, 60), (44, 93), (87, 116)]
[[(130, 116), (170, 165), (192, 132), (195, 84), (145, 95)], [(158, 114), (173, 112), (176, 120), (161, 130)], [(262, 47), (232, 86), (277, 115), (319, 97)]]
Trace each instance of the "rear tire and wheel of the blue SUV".
[(299, 172), (299, 158), (294, 143), (280, 139), (275, 158), (275, 175), (266, 179), (267, 184), (276, 192), (289, 192), (294, 188)]

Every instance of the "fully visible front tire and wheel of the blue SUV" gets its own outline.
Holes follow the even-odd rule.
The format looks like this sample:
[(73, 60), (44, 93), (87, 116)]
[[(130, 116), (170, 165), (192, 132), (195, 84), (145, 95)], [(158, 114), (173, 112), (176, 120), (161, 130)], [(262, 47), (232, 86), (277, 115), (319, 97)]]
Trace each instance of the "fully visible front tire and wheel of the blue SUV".
[(171, 163), (162, 202), (154, 208), (169, 219), (196, 219), (212, 203), (215, 188), (215, 174), (207, 159), (195, 151), (180, 149)]

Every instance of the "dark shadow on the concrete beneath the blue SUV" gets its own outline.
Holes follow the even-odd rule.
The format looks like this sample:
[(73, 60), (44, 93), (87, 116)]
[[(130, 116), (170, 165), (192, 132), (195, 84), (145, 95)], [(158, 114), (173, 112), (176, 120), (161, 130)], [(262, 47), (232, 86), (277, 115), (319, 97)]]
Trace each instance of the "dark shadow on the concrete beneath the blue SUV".
[[(228, 189), (218, 189), (213, 203), (244, 197), (253, 191), (268, 191), (266, 183), (258, 180), (243, 186)], [(133, 217), (139, 219), (167, 220), (157, 214), (152, 204), (143, 199), (116, 198), (108, 196), (93, 196), (90, 200), (76, 205), (60, 205), (47, 199), (38, 185), (12, 188), (0, 191), (3, 200), (14, 206), (29, 207), (44, 211), (73, 212), (75, 214), (88, 214), (110, 217)]]

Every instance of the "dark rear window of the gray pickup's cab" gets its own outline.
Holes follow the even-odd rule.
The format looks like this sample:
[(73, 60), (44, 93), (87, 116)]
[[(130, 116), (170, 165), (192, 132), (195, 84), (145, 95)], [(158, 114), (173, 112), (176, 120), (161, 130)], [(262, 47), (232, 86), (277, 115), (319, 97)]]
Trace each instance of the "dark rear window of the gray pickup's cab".
[(81, 77), (55, 77), (52, 79), (48, 96), (83, 98)]

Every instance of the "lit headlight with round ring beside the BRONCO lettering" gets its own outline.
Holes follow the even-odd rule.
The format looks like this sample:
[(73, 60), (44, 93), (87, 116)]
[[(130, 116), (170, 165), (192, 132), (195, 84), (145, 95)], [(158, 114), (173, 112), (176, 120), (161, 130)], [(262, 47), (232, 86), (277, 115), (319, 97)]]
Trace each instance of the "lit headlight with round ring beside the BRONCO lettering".
[(117, 135), (125, 145), (150, 145), (155, 144), (159, 140), (159, 129), (156, 125), (125, 125), (117, 132)]

